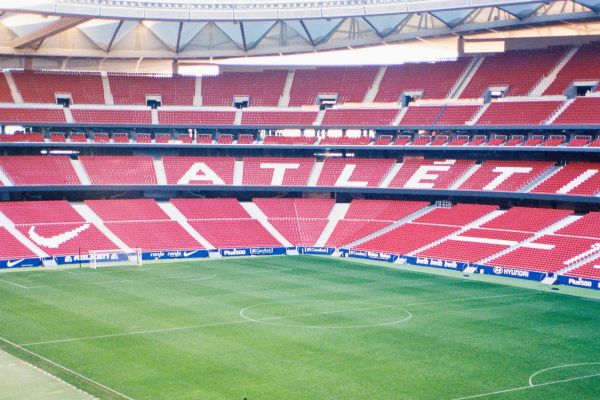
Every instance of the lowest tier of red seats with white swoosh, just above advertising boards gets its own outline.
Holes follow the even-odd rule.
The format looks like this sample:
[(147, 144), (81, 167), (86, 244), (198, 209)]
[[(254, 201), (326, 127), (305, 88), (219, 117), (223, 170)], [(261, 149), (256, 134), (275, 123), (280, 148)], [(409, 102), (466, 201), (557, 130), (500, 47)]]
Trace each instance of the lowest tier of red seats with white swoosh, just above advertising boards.
[[(341, 214), (332, 212), (331, 199), (259, 198), (254, 205), (266, 225), (236, 199), (86, 201), (79, 207), (90, 210), (87, 221), (67, 201), (4, 202), (0, 212), (14, 225), (0, 229), (0, 258), (40, 250), (78, 254), (116, 248), (119, 241), (146, 251), (201, 249), (200, 238), (218, 248), (270, 247), (282, 245), (275, 238), (281, 235), (294, 246), (326, 240), (328, 246), (543, 272), (576, 267), (571, 275), (600, 277), (593, 259), (600, 255), (598, 212), (576, 216), (570, 210), (395, 200), (353, 200), (339, 204), (345, 207)], [(186, 225), (167, 209), (183, 215)], [(331, 234), (321, 238), (330, 224)]]

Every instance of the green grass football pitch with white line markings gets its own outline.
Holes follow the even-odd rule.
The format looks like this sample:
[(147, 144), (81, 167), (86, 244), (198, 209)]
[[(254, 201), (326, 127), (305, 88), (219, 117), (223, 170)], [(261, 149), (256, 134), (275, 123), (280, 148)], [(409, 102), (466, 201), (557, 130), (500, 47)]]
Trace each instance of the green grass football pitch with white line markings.
[(459, 277), (301, 256), (4, 273), (0, 348), (100, 398), (599, 398), (598, 300)]

